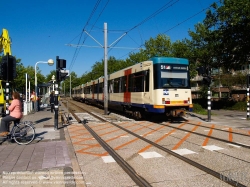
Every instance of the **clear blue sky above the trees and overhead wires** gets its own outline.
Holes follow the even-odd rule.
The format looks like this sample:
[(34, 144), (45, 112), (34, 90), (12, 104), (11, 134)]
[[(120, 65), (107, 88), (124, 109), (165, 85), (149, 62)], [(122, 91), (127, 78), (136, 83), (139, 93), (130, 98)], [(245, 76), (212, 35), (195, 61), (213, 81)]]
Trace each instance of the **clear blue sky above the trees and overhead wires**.
[[(138, 48), (150, 37), (165, 33), (171, 41), (188, 38), (188, 30), (202, 22), (205, 11), (182, 23), (187, 18), (207, 8), (214, 0), (0, 0), (0, 29), (9, 31), (12, 55), (20, 58), (25, 67), (35, 66), (56, 56), (67, 60), (67, 68), (81, 76), (90, 71), (96, 61), (101, 61), (104, 49), (87, 32), (103, 45), (104, 23), (108, 28), (108, 46), (126, 31), (142, 23), (167, 3), (159, 14), (138, 25), (124, 36), (108, 53), (117, 59), (126, 59), (129, 52)], [(94, 7), (99, 2), (95, 11)], [(171, 5), (171, 6), (170, 6)], [(92, 15), (92, 16), (91, 16)], [(89, 19), (91, 18), (91, 19)], [(173, 28), (174, 27), (174, 28)], [(173, 28), (173, 29), (171, 29)], [(80, 39), (80, 36), (81, 39)], [(66, 44), (83, 44), (80, 49)], [(99, 46), (90, 47), (90, 46)], [(136, 50), (133, 50), (136, 52)], [(56, 66), (39, 64), (47, 75)]]

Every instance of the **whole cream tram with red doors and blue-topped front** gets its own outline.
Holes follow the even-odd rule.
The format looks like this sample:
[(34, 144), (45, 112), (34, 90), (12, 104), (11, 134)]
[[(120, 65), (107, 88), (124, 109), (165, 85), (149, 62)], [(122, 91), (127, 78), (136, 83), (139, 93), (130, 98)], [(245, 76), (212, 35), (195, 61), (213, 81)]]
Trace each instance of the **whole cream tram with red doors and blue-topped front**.
[[(73, 88), (73, 98), (104, 105), (104, 77)], [(153, 57), (108, 75), (108, 107), (136, 119), (155, 114), (170, 117), (192, 111), (189, 61)]]

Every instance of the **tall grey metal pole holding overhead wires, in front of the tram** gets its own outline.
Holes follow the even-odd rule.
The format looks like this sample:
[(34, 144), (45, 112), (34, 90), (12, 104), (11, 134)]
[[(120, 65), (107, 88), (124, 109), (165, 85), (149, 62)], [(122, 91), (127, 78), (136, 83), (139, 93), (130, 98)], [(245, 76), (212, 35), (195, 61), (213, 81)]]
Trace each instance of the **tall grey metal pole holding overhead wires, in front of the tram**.
[(107, 54), (107, 23), (104, 23), (104, 114), (108, 114), (108, 54)]

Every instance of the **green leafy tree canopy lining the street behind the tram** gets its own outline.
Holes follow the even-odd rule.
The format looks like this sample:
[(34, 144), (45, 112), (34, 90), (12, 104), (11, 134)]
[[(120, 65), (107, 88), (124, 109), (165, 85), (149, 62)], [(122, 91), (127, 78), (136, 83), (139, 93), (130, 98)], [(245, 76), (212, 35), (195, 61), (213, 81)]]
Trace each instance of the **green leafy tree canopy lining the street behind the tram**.
[[(169, 36), (158, 34), (150, 37), (139, 52), (131, 52), (127, 59), (120, 60), (114, 56), (108, 58), (108, 74), (148, 60), (154, 56), (170, 56), (186, 58), (190, 62), (191, 77), (196, 75), (197, 65), (210, 65), (222, 69), (235, 69), (250, 61), (250, 1), (221, 0), (213, 3), (206, 12), (202, 23), (194, 25), (189, 30), (190, 39), (171, 42)], [(71, 72), (72, 88), (104, 75), (104, 61), (95, 62), (90, 72), (83, 72), (77, 77)], [(31, 87), (34, 87), (34, 68), (24, 67), (21, 60), (17, 63), (16, 89), (25, 88), (24, 74), (30, 75)], [(38, 84), (49, 82), (55, 70), (47, 76), (37, 71)], [(69, 91), (69, 79), (65, 81), (66, 91)]]

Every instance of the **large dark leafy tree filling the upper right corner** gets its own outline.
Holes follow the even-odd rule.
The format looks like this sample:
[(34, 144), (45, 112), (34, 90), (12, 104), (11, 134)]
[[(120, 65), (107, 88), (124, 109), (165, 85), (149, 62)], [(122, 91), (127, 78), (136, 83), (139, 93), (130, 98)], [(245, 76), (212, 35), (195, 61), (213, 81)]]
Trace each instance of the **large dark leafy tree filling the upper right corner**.
[(203, 23), (189, 32), (202, 64), (231, 69), (249, 60), (249, 9), (249, 0), (222, 0), (221, 6), (211, 5)]

